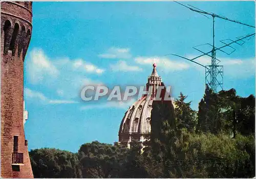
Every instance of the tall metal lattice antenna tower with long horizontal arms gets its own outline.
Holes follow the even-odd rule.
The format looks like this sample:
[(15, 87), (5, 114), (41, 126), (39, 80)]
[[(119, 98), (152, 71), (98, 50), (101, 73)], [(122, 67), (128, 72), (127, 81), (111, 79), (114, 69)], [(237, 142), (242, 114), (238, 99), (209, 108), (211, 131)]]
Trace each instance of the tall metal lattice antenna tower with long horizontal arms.
[[(241, 25), (246, 25), (247, 27), (251, 27), (251, 28), (255, 28), (255, 27), (253, 25), (249, 25), (249, 24), (237, 21), (237, 20), (232, 20), (232, 19), (226, 18), (221, 15), (217, 15), (217, 14), (210, 13), (210, 12), (205, 12), (205, 11), (203, 11), (199, 8), (196, 8), (194, 6), (191, 6), (191, 5), (188, 5), (189, 6), (188, 7), (179, 2), (176, 2), (176, 1), (174, 1), (174, 2), (190, 9), (191, 11), (198, 12), (199, 14), (201, 14), (207, 18), (209, 18), (209, 16), (212, 17), (212, 44), (206, 43), (206, 44), (194, 46), (193, 48), (198, 50), (200, 53), (202, 53), (202, 55), (195, 57), (193, 59), (188, 59), (188, 58), (176, 55), (176, 54), (167, 54), (165, 56), (174, 55), (174, 56), (189, 60), (191, 62), (194, 62), (200, 66), (203, 66), (205, 68), (205, 85), (208, 85), (208, 87), (211, 88), (214, 92), (218, 92), (219, 89), (223, 90), (223, 65), (219, 65), (219, 63), (221, 61), (216, 58), (216, 51), (220, 50), (221, 52), (223, 52), (227, 55), (230, 55), (236, 50), (234, 47), (231, 46), (231, 44), (236, 43), (238, 45), (243, 45), (245, 43), (245, 40), (249, 40), (251, 37), (255, 36), (255, 33), (246, 35), (244, 37), (237, 37), (235, 40), (231, 40), (231, 39), (220, 40), (220, 42), (223, 43), (224, 45), (221, 47), (216, 47), (215, 46), (215, 18), (220, 18), (220, 19), (224, 19), (227, 21), (239, 23)], [(212, 47), (212, 49), (209, 52), (205, 53), (198, 48), (199, 46), (202, 46), (202, 45), (210, 45)], [(230, 47), (232, 49), (232, 52), (230, 52), (230, 53), (225, 52), (225, 50), (223, 49), (224, 47)], [(208, 56), (211, 58), (210, 65), (203, 65), (201, 63), (194, 61), (203, 56)]]

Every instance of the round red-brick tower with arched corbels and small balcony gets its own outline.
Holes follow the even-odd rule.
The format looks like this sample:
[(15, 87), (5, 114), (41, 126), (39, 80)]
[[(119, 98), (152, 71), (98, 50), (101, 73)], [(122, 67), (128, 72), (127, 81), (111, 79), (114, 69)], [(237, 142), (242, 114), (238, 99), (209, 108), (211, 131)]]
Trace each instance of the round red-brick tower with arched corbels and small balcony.
[(32, 2), (1, 2), (1, 177), (33, 178), (24, 134), (23, 65)]

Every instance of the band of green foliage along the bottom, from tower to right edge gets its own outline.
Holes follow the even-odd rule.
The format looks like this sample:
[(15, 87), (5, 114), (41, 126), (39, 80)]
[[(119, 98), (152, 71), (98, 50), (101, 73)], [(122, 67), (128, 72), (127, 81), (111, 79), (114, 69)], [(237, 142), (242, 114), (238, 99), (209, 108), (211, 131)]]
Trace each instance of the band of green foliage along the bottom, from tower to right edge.
[(163, 155), (153, 154), (151, 146), (144, 148), (141, 154), (139, 143), (127, 149), (118, 144), (97, 141), (83, 144), (78, 155), (47, 148), (32, 150), (30, 157), (34, 177), (255, 176), (253, 135), (238, 134), (236, 139), (232, 139), (226, 134), (190, 133), (185, 128), (179, 132), (175, 143), (165, 145), (168, 149), (164, 152), (158, 151)]

